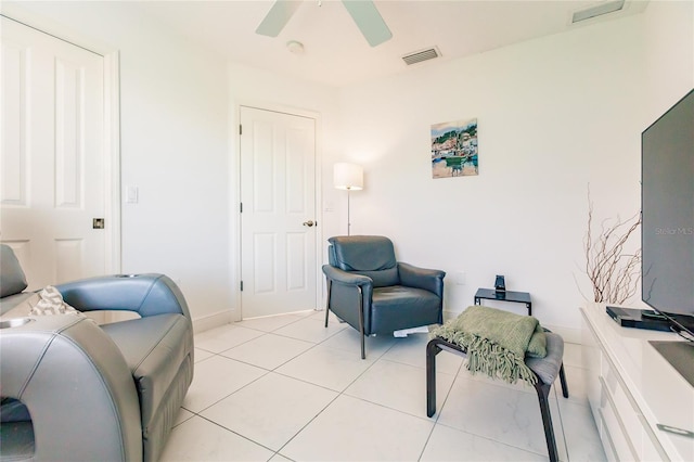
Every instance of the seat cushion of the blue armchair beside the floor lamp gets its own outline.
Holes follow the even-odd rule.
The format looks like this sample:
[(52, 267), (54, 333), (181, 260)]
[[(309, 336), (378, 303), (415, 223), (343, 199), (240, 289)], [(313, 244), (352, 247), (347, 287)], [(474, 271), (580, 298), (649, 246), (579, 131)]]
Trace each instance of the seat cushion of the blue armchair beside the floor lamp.
[(371, 332), (390, 334), (400, 329), (436, 324), (439, 320), (441, 299), (429, 291), (403, 285), (374, 287)]

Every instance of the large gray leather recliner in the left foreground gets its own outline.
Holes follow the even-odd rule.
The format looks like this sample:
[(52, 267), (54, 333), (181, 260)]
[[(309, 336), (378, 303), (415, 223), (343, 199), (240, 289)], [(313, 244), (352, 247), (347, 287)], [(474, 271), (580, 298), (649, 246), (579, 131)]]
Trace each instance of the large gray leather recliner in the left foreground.
[(193, 380), (178, 286), (163, 274), (86, 279), (56, 286), (65, 303), (140, 318), (27, 316), (22, 304), (36, 294), (0, 247), (0, 460), (158, 460)]

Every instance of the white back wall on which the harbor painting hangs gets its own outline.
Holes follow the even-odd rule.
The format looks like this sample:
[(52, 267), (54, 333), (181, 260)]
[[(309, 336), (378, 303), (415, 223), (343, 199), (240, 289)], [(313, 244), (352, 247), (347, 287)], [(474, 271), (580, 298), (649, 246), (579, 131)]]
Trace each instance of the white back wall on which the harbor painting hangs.
[[(576, 338), (576, 280), (591, 294), (580, 270), (588, 185), (597, 220), (640, 207), (640, 133), (653, 105), (645, 63), (659, 51), (648, 35), (668, 29), (669, 61), (691, 69), (691, 40), (680, 44), (691, 3), (670, 7), (689, 23), (680, 11), (646, 28), (642, 14), (344, 88), (343, 146), (365, 170), (352, 232), (389, 235), (400, 259), (446, 270), (449, 311), (505, 274), (507, 288), (532, 294), (541, 322)], [(470, 118), (479, 176), (433, 179), (430, 125)]]

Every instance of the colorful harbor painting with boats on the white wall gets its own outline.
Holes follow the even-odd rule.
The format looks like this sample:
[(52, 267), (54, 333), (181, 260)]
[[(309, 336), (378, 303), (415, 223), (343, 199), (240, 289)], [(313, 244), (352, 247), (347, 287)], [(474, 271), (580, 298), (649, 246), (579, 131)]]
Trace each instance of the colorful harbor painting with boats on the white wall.
[(479, 175), (477, 119), (432, 125), (432, 176), (434, 178)]

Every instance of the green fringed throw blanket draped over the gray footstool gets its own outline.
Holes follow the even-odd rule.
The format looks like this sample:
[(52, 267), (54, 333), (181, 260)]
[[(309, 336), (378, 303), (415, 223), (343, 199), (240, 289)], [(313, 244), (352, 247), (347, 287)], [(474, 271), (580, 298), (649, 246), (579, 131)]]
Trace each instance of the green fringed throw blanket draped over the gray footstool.
[(492, 378), (535, 385), (536, 375), (525, 364), (525, 356), (544, 358), (547, 337), (537, 318), (484, 306), (471, 306), (458, 318), (432, 330), (467, 351), (467, 370)]

